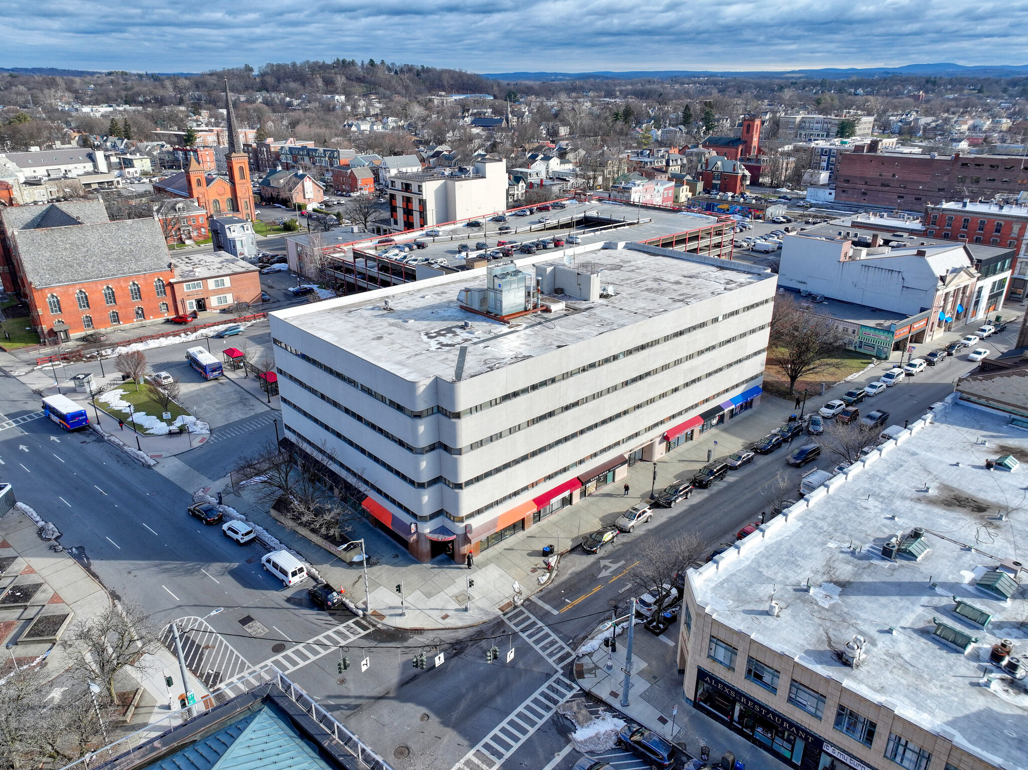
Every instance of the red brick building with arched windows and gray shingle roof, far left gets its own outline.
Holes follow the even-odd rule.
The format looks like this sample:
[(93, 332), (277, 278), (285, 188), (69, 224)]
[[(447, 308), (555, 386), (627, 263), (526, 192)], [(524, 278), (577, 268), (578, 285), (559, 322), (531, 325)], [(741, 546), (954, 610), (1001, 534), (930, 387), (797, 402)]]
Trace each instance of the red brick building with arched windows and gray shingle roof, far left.
[(168, 247), (152, 217), (111, 222), (99, 200), (0, 209), (5, 288), (30, 307), (40, 338), (167, 318)]

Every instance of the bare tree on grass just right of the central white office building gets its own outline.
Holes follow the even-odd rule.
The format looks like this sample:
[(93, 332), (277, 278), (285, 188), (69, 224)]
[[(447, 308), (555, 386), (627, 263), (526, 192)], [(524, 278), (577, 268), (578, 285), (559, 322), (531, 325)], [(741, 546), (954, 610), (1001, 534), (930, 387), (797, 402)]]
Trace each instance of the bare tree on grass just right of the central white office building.
[(768, 358), (788, 377), (791, 395), (800, 377), (831, 366), (842, 340), (834, 319), (803, 309), (792, 295), (775, 299)]

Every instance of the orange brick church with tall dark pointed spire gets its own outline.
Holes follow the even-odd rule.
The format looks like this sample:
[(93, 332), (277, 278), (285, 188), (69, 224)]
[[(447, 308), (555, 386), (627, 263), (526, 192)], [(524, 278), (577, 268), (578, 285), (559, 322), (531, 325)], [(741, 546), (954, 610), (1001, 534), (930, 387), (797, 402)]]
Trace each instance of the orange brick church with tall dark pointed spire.
[(173, 174), (160, 182), (154, 182), (154, 190), (179, 197), (191, 197), (205, 209), (209, 216), (234, 214), (244, 219), (254, 218), (254, 193), (250, 178), (250, 155), (240, 147), (232, 100), (228, 95), (228, 79), (225, 79), (225, 119), (228, 123), (228, 155), (225, 161), (228, 174), (213, 174), (205, 171), (190, 153), (189, 166), (184, 172)]

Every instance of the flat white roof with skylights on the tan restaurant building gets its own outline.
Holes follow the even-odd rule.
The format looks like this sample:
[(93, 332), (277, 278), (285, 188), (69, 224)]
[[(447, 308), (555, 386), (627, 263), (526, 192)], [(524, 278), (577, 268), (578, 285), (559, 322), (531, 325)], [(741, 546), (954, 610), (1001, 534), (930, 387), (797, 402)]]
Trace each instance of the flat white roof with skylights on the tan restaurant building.
[[(1028, 594), (1022, 585), (1002, 601), (976, 581), (1003, 559), (1025, 560), (1028, 432), (952, 400), (933, 423), (915, 423), (867, 467), (837, 477), (831, 494), (809, 508), (801, 501), (690, 575), (720, 623), (989, 763), (1024, 768), (1025, 681), (988, 660), (1001, 638), (1028, 655)], [(985, 469), (1004, 454), (1020, 468)], [(913, 527), (927, 533), (920, 561), (882, 556), (883, 543)], [(991, 613), (988, 627), (956, 615), (954, 596)], [(767, 614), (772, 597), (777, 618)], [(932, 618), (978, 640), (961, 653), (932, 634)], [(837, 655), (854, 635), (867, 640), (857, 668)]]

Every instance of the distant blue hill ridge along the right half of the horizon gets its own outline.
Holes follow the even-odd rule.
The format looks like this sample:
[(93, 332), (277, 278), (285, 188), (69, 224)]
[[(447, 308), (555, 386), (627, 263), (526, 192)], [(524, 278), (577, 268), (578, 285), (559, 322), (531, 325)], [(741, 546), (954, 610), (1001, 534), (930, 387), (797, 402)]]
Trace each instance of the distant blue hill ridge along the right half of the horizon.
[(491, 80), (508, 81), (559, 81), (559, 80), (638, 80), (640, 78), (667, 79), (671, 77), (752, 77), (752, 78), (847, 78), (886, 77), (888, 75), (940, 75), (1014, 77), (1028, 75), (1028, 65), (965, 66), (960, 64), (908, 64), (903, 67), (829, 67), (816, 70), (761, 70), (740, 72), (729, 70), (638, 70), (630, 72), (495, 72), (483, 73)]

